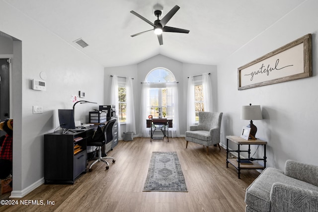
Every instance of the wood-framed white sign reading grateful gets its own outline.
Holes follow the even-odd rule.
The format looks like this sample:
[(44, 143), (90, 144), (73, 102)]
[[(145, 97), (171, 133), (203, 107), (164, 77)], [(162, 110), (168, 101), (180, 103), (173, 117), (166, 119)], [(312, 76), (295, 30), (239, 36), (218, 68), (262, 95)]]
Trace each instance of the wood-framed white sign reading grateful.
[(238, 69), (243, 90), (312, 76), (312, 35), (307, 34)]

